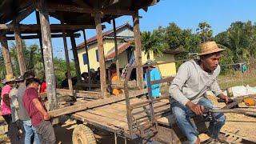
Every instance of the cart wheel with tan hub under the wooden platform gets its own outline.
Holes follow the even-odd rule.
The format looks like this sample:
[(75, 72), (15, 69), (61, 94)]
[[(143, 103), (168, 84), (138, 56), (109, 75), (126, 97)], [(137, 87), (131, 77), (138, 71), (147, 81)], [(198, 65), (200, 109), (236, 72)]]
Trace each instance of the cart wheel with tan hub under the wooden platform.
[(93, 131), (81, 124), (74, 128), (72, 142), (73, 144), (96, 144), (96, 139)]

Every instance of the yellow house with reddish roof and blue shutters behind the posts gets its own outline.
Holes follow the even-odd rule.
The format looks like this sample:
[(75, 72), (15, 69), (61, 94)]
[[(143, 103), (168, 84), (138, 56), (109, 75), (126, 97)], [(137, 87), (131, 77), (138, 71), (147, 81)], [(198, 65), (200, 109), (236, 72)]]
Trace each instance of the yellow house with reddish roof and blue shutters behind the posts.
[[(118, 42), (118, 54), (119, 54), (119, 66), (124, 68), (129, 59), (134, 53), (134, 47), (130, 45), (130, 41), (134, 39), (133, 27), (128, 23), (117, 27), (117, 42)], [(90, 69), (98, 70), (98, 46), (96, 36), (88, 39), (86, 41), (88, 46), (88, 57), (90, 63)], [(104, 55), (106, 60), (106, 68), (114, 62), (115, 51), (114, 51), (114, 31), (108, 30), (103, 33), (103, 47)], [(87, 58), (86, 58), (86, 49), (84, 42), (77, 46), (78, 49), (78, 58), (81, 73), (88, 72), (87, 70)], [(165, 51), (162, 55), (150, 54), (150, 59), (155, 60), (156, 62), (170, 62), (174, 61), (174, 54), (177, 54), (177, 51), (168, 50)], [(142, 51), (142, 63), (145, 63), (147, 60), (146, 54)], [(172, 76), (176, 74), (175, 63), (168, 63), (159, 65), (158, 69), (161, 71), (162, 77)]]

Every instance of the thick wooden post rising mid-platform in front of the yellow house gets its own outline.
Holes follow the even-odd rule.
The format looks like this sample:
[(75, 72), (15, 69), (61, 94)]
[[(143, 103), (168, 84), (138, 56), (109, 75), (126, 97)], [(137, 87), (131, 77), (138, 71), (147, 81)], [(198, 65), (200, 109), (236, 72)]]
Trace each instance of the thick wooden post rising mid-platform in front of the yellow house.
[(106, 98), (106, 68), (105, 68), (103, 38), (102, 38), (101, 14), (99, 14), (99, 13), (95, 14), (94, 20), (95, 20), (96, 31), (97, 31), (99, 68), (101, 71), (101, 75), (100, 75), (101, 90), (102, 90), (103, 98)]

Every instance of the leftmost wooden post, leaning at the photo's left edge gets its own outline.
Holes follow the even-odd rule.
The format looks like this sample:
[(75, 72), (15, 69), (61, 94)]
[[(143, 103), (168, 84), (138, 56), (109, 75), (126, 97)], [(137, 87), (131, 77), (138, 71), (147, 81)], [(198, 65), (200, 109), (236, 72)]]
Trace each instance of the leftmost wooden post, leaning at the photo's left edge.
[(14, 71), (13, 71), (13, 68), (11, 66), (10, 53), (9, 53), (9, 49), (8, 49), (8, 43), (7, 43), (6, 35), (3, 35), (2, 31), (0, 31), (0, 42), (1, 42), (1, 45), (2, 45), (3, 60), (4, 60), (5, 65), (6, 65), (6, 74), (10, 75), (10, 77), (14, 76)]

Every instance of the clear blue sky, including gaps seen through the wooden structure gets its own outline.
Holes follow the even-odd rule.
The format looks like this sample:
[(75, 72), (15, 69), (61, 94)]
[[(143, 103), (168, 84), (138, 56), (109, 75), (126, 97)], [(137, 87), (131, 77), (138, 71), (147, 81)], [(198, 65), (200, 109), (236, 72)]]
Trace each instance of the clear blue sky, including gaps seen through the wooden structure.
[[(182, 29), (192, 29), (194, 32), (199, 22), (208, 22), (212, 26), (214, 35), (226, 30), (232, 22), (248, 20), (256, 22), (255, 0), (160, 0), (158, 4), (150, 6), (149, 10), (139, 10), (140, 30), (153, 31), (158, 26), (168, 26), (175, 22)], [(131, 16), (122, 16), (116, 19), (116, 26), (129, 22), (132, 25)], [(36, 23), (35, 14), (30, 14), (22, 24)], [(50, 23), (60, 23), (57, 19), (50, 17)], [(105, 30), (113, 28), (112, 24), (106, 25)], [(93, 37), (96, 30), (86, 30), (86, 38)], [(82, 35), (82, 34), (81, 34)], [(11, 41), (10, 41), (11, 42)], [(9, 42), (9, 43), (10, 43)], [(67, 39), (70, 50), (70, 38)], [(83, 37), (76, 38), (76, 44), (83, 42)], [(26, 40), (26, 44), (38, 44), (38, 40)], [(64, 58), (62, 38), (53, 38), (54, 57)], [(70, 58), (72, 53), (70, 50)]]

